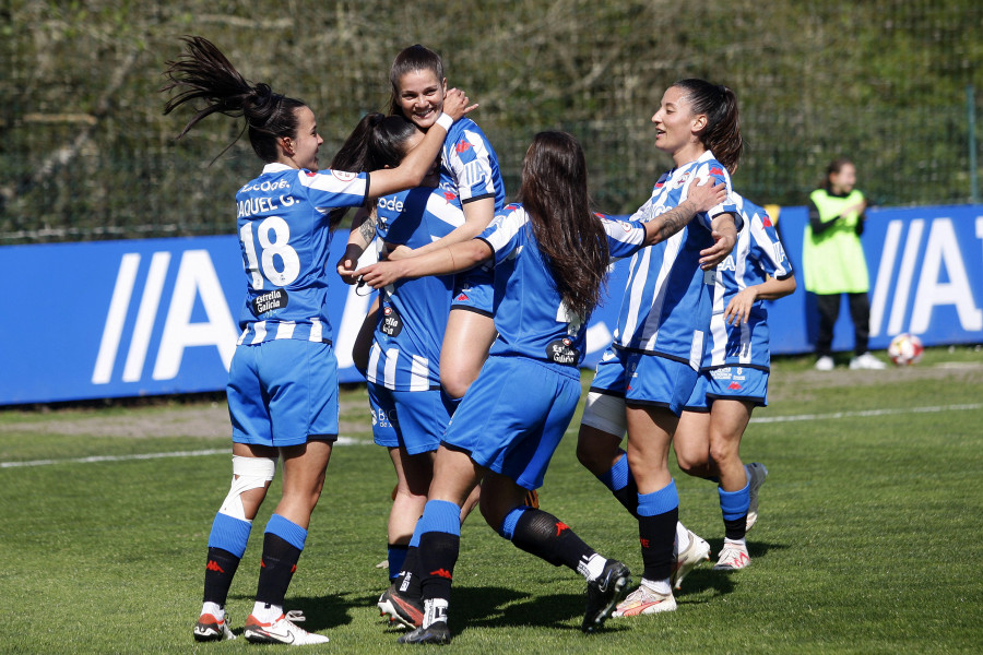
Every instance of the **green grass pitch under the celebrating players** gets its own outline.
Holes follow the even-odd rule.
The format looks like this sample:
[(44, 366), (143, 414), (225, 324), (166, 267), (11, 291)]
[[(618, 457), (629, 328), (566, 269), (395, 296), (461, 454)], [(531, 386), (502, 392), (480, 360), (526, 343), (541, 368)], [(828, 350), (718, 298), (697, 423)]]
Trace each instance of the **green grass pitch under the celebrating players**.
[[(807, 359), (777, 362), (772, 405), (756, 412), (742, 449), (745, 461), (765, 462), (770, 471), (761, 517), (748, 539), (753, 563), (732, 574), (711, 571), (712, 562), (696, 569), (671, 615), (612, 620), (603, 632), (582, 635), (582, 579), (517, 550), (474, 514), (462, 533), (450, 615), (455, 638), (448, 650), (978, 652), (980, 359), (971, 349), (931, 350), (912, 371), (892, 369), (876, 378), (838, 371), (842, 382), (833, 384), (812, 376)], [(952, 360), (969, 368), (946, 368)], [(386, 556), (391, 465), (367, 443), (364, 389), (347, 390), (343, 398), (345, 436), (362, 443), (335, 450), (287, 607), (304, 610), (304, 626), (331, 638), (310, 650), (405, 652), (408, 646), (395, 643), (399, 633), (381, 623), (375, 607), (387, 584), (375, 564)], [(939, 409), (954, 405), (962, 407)], [(190, 634), (211, 521), (230, 475), (227, 437), (134, 438), (104, 429), (107, 421), (162, 420), (169, 410), (0, 412), (0, 462), (8, 464), (0, 468), (0, 651), (258, 647), (241, 639), (197, 644)], [(71, 430), (45, 428), (68, 425)], [(640, 572), (633, 522), (576, 461), (578, 425), (575, 418), (554, 457), (542, 507), (599, 551)], [(222, 452), (78, 461), (209, 450)], [(59, 462), (9, 465), (38, 460)], [(685, 475), (676, 481), (680, 517), (715, 555), (723, 526), (714, 486)], [(259, 533), (277, 487), (257, 517), (232, 588), (236, 632), (252, 605)]]

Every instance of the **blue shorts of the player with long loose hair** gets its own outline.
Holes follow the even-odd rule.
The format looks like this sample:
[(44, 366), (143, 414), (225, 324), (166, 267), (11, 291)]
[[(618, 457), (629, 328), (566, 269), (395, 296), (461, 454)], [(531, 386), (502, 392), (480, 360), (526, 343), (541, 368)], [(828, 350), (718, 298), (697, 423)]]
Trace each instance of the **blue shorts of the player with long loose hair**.
[(580, 400), (580, 371), (492, 356), (458, 407), (445, 445), (525, 489), (543, 486)]

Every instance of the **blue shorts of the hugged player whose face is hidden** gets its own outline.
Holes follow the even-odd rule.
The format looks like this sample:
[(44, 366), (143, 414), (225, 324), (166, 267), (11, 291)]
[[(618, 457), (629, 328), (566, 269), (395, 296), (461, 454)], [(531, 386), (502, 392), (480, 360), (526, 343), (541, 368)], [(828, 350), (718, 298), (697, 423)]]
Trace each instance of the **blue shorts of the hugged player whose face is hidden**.
[(403, 446), (411, 455), (436, 451), (450, 422), (443, 392), (393, 391), (368, 383), (372, 438), (386, 448)]

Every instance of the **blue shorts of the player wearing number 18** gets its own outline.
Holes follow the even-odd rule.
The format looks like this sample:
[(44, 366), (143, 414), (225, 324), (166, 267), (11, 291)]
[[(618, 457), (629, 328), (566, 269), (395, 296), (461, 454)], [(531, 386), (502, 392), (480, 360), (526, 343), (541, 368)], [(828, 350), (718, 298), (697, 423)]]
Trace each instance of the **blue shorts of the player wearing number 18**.
[(337, 439), (331, 344), (283, 338), (236, 346), (226, 395), (236, 443), (280, 448)]

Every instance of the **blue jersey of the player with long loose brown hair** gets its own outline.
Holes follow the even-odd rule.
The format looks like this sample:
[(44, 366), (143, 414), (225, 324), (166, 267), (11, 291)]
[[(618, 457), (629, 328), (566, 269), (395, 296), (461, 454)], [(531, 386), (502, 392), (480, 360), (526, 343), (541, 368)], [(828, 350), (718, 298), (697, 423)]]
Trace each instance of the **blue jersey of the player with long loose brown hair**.
[[(612, 259), (628, 257), (644, 243), (637, 221), (601, 217)], [(492, 247), (495, 263), (495, 327), (492, 355), (522, 355), (564, 366), (584, 356), (590, 317), (572, 315), (562, 302), (548, 266), (540, 255), (529, 214), (510, 204), (478, 235)]]

